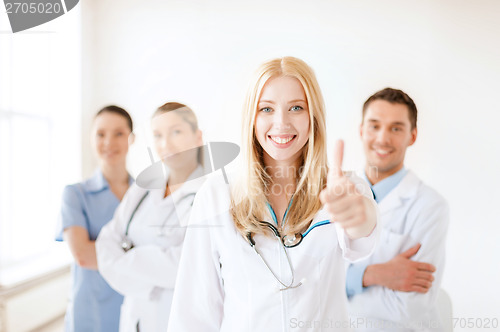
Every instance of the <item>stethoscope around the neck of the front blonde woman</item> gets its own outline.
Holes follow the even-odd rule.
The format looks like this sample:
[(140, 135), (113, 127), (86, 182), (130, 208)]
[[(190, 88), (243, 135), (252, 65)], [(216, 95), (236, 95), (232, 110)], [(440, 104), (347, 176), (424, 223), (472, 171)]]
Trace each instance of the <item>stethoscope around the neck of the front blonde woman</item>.
[[(283, 219), (282, 219), (283, 224), (285, 223), (288, 210), (290, 209), (290, 206), (292, 205), (292, 200), (293, 200), (293, 197), (292, 197), (292, 199), (290, 199), (290, 203), (288, 204), (288, 207), (285, 211), (285, 214), (283, 215)], [(276, 225), (278, 225), (278, 220), (276, 218), (276, 214), (274, 213), (273, 208), (271, 207), (271, 205), (269, 203), (266, 202), (266, 204), (267, 204), (267, 208), (271, 212), (271, 217), (273, 218), (274, 223)], [(305, 282), (305, 280), (301, 280), (298, 284), (294, 285), (295, 272), (293, 270), (292, 261), (290, 260), (290, 256), (288, 255), (288, 251), (286, 249), (298, 246), (302, 242), (304, 237), (306, 237), (306, 235), (309, 234), (310, 231), (312, 231), (314, 228), (316, 228), (318, 226), (330, 224), (330, 221), (329, 220), (319, 221), (316, 224), (314, 224), (313, 226), (310, 226), (304, 234), (296, 233), (295, 235), (285, 235), (285, 236), (281, 236), (280, 232), (278, 231), (278, 228), (275, 225), (273, 225), (267, 221), (260, 221), (259, 223), (263, 226), (268, 227), (271, 230), (271, 232), (274, 234), (274, 236), (278, 239), (278, 242), (280, 243), (281, 249), (285, 252), (285, 256), (286, 256), (286, 259), (288, 261), (288, 267), (289, 267), (290, 273), (292, 275), (292, 281), (290, 281), (289, 284), (285, 284), (276, 275), (276, 273), (274, 273), (273, 269), (271, 269), (271, 267), (267, 263), (266, 259), (262, 256), (260, 251), (257, 249), (257, 246), (255, 245), (255, 241), (252, 238), (252, 233), (249, 232), (249, 233), (247, 233), (247, 240), (248, 240), (248, 243), (250, 244), (250, 247), (252, 247), (255, 250), (255, 252), (260, 257), (262, 262), (264, 262), (264, 265), (266, 265), (266, 268), (273, 275), (274, 279), (276, 279), (283, 286), (283, 288), (279, 288), (280, 291), (284, 291), (284, 290), (292, 289), (292, 288), (297, 288), (297, 287), (301, 286)]]

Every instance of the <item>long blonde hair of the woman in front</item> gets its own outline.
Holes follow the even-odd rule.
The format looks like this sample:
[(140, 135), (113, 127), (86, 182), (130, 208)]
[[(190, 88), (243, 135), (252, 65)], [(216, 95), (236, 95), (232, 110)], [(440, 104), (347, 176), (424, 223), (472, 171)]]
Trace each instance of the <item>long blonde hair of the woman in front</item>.
[(309, 138), (302, 149), (300, 171), (293, 203), (287, 213), (284, 234), (303, 232), (321, 209), (319, 193), (326, 185), (328, 173), (326, 154), (326, 124), (323, 96), (313, 70), (302, 60), (283, 57), (263, 63), (255, 73), (243, 107), (242, 154), (245, 158), (240, 181), (231, 191), (231, 215), (236, 228), (247, 233), (268, 234), (259, 221), (268, 214), (266, 191), (272, 185), (265, 171), (263, 150), (255, 136), (255, 116), (262, 89), (269, 79), (294, 77), (304, 88), (309, 108)]

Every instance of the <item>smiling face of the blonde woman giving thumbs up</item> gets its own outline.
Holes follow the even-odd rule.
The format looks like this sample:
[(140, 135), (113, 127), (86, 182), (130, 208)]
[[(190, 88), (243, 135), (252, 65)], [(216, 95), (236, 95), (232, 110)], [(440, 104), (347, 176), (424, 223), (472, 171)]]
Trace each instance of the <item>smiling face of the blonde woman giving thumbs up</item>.
[(269, 79), (255, 117), (255, 136), (264, 151), (264, 164), (295, 165), (309, 138), (309, 122), (300, 81), (289, 76)]

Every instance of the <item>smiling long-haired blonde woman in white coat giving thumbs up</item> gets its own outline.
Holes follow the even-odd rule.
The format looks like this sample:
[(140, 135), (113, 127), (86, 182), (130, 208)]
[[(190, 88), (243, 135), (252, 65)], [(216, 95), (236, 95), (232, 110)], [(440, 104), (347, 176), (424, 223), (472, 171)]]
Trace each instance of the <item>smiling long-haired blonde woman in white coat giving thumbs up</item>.
[(168, 331), (348, 329), (345, 261), (371, 253), (377, 210), (366, 184), (341, 171), (340, 143), (328, 171), (307, 64), (258, 69), (242, 132), (242, 174), (229, 186), (216, 174), (196, 197)]

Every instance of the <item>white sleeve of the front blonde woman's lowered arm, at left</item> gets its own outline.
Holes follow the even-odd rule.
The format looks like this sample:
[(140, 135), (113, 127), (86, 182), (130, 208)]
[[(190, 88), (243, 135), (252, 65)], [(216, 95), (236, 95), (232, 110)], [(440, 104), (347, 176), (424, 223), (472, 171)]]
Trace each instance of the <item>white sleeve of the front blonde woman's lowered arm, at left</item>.
[(224, 288), (220, 255), (213, 241), (217, 219), (206, 219), (216, 200), (208, 181), (196, 195), (184, 240), (168, 331), (219, 331), (223, 317)]

